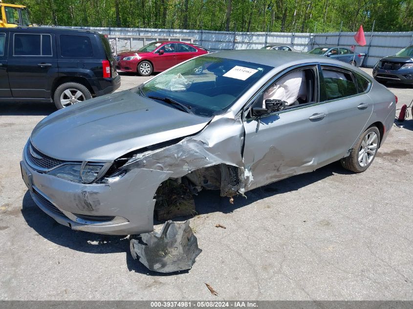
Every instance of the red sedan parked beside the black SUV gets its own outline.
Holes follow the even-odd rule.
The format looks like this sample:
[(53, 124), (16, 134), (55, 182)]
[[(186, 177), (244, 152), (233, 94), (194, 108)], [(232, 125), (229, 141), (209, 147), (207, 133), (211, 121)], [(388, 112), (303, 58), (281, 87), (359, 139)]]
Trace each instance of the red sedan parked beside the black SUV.
[(116, 55), (118, 70), (137, 72), (148, 76), (152, 72), (161, 72), (170, 67), (194, 58), (208, 54), (206, 49), (180, 41), (156, 41), (138, 50), (123, 52)]

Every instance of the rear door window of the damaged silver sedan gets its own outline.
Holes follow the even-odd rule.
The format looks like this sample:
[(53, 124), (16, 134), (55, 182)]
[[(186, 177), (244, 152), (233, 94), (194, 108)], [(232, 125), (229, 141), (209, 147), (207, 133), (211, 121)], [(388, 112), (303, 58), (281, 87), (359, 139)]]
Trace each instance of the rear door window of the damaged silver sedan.
[(326, 99), (334, 100), (357, 94), (352, 75), (344, 70), (323, 68)]

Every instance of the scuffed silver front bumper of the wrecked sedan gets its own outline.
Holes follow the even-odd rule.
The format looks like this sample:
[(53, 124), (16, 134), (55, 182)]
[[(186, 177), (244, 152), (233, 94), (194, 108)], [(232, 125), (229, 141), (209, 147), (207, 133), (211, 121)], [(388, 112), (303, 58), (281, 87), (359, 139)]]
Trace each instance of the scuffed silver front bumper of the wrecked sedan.
[(46, 214), (75, 230), (128, 235), (153, 230), (153, 196), (169, 177), (165, 171), (133, 169), (108, 184), (79, 184), (20, 162), (22, 178)]

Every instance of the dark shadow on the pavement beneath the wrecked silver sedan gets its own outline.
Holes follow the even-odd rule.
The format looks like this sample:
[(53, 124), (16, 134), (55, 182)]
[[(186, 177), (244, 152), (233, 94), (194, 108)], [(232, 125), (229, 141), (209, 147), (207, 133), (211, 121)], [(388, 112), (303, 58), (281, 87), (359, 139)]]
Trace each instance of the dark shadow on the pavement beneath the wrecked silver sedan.
[[(249, 191), (246, 193), (247, 199), (242, 196), (234, 197), (234, 204), (229, 203), (229, 198), (220, 197), (218, 191), (205, 190), (201, 191), (198, 196), (195, 197), (196, 210), (198, 214), (216, 211), (231, 213), (237, 208), (249, 205), (263, 198), (298, 190), (333, 174), (351, 174), (351, 172), (342, 168), (339, 163), (333, 163), (315, 172), (293, 176), (271, 185)], [(126, 252), (126, 264), (130, 271), (150, 276), (170, 276), (188, 272), (187, 270), (174, 273), (158, 273), (149, 270), (137, 260), (133, 260), (130, 254), (129, 238), (125, 236), (108, 236), (74, 231), (69, 227), (65, 227), (54, 221), (36, 206), (29, 191), (26, 191), (23, 197), (22, 215), (29, 227), (33, 228), (45, 239), (59, 246), (94, 254)], [(176, 220), (186, 219), (188, 218), (176, 218)]]

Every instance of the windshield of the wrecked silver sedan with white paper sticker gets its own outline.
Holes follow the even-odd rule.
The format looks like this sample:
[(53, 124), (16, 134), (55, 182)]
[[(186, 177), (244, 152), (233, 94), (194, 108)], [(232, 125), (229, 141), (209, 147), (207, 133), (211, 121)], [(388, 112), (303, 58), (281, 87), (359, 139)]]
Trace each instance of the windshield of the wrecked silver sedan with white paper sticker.
[(198, 116), (211, 117), (227, 110), (271, 69), (252, 62), (202, 56), (154, 77), (133, 91), (145, 97), (169, 98), (188, 106)]

